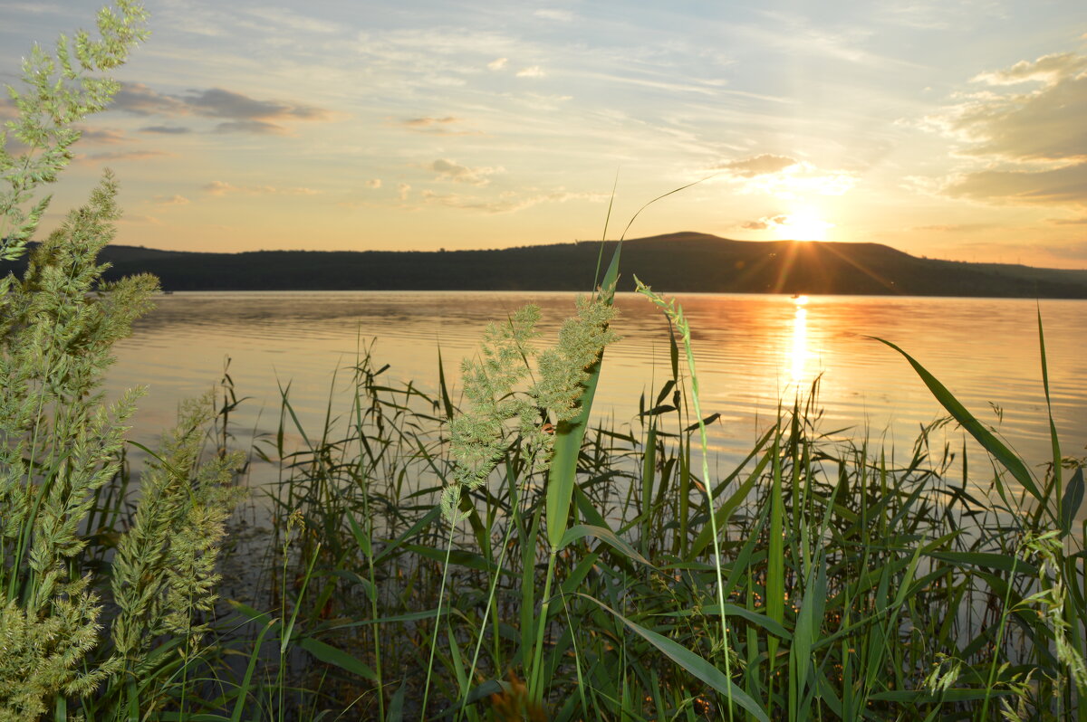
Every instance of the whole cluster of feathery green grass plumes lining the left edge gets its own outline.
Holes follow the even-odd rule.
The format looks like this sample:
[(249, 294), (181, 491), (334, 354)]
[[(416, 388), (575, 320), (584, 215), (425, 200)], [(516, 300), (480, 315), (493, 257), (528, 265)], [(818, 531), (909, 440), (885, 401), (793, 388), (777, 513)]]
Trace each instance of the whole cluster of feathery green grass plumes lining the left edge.
[[(34, 191), (71, 160), (74, 124), (118, 89), (100, 74), (146, 37), (145, 20), (139, 3), (120, 0), (99, 13), (99, 39), (79, 31), (55, 55), (35, 47), (24, 61), (25, 89), (9, 88), (18, 117), (0, 132), (3, 259), (27, 251), (49, 203), (27, 207)], [(24, 147), (17, 156), (9, 134)], [(207, 629), (198, 618), (211, 609), (237, 501), (228, 489), (237, 456), (198, 466), (214, 416), (205, 400), (184, 411), (165, 458), (145, 476), (132, 528), (104, 523), (102, 492), (122, 476), (141, 391), (108, 404), (102, 376), (158, 290), (150, 276), (102, 282), (97, 255), (113, 238), (116, 191), (105, 172), (89, 202), (34, 249), (24, 276), (0, 280), (0, 720), (65, 719), (70, 704), (150, 713), (177, 686), (173, 661), (186, 668)], [(112, 524), (123, 504), (122, 495)], [(120, 613), (103, 617), (107, 604)]]

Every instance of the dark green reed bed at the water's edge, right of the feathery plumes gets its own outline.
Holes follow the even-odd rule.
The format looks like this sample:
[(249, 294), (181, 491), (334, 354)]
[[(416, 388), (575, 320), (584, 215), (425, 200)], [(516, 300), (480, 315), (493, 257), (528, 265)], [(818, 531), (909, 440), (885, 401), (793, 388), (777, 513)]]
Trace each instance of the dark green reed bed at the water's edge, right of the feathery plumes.
[[(305, 525), (280, 583), (308, 585), (273, 612), (315, 662), (291, 714), (421, 719), (424, 698), (427, 719), (468, 720), (1083, 714), (1083, 534), (1054, 503), (1078, 507), (1078, 461), (1032, 489), (998, 448), (978, 493), (967, 469), (986, 460), (930, 444), (947, 420), (903, 458), (832, 443), (816, 387), (714, 473), (684, 371), (632, 431), (587, 429), (558, 524), (554, 469), (516, 433), (451, 524), (437, 501), (459, 404), (361, 355), (346, 407), (301, 449), (265, 452), (284, 471), (274, 519)], [(303, 431), (284, 409), (277, 439)]]

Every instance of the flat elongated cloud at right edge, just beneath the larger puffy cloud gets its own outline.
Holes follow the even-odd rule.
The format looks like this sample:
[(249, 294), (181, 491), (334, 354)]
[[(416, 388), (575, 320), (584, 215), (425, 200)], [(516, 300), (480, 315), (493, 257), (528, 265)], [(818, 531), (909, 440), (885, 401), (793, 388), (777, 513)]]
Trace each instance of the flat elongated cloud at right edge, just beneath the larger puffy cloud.
[(1052, 170), (978, 170), (951, 178), (946, 195), (990, 203), (1087, 205), (1087, 163)]

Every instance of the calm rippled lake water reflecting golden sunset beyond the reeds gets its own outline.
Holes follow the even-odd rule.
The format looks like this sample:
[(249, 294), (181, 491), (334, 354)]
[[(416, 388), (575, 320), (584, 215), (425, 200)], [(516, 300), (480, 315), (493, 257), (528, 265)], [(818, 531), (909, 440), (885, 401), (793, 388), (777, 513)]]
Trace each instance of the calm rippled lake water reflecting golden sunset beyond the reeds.
[[(860, 432), (866, 431), (908, 455), (919, 425), (940, 408), (902, 357), (866, 335), (911, 353), (1030, 464), (1049, 454), (1034, 301), (812, 296), (800, 304), (780, 295), (702, 294), (679, 301), (694, 329), (702, 408), (722, 417), (712, 443), (725, 458), (742, 455), (779, 401), (791, 404), (820, 373), (825, 430), (852, 427)], [(296, 410), (316, 431), (330, 390), (348, 408), (333, 371), (351, 364), (360, 340), (377, 339), (375, 357), (391, 365), (387, 373), (433, 391), (439, 346), (455, 379), (489, 320), (536, 303), (544, 343), (573, 302), (569, 293), (176, 293), (162, 296), (120, 344), (109, 389), (149, 387), (132, 438), (153, 442), (172, 426), (177, 403), (211, 389), (229, 357), (238, 394), (251, 397), (234, 417), (242, 443), (275, 430), (278, 384), (290, 384)], [(614, 328), (624, 338), (608, 351), (597, 409), (623, 427), (634, 421), (639, 395), (653, 395), (669, 378), (670, 360), (660, 313), (634, 294), (621, 294), (617, 305)], [(1087, 302), (1045, 301), (1041, 313), (1062, 447), (1082, 455)], [(990, 403), (1003, 409), (1002, 421)], [(950, 434), (953, 447), (961, 436)]]

